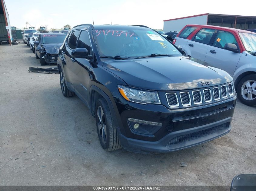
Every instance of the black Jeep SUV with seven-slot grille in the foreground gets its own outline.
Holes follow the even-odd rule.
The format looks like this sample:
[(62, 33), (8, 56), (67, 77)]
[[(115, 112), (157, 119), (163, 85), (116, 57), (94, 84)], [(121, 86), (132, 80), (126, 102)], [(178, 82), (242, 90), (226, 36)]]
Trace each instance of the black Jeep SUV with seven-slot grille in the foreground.
[(108, 151), (175, 151), (231, 129), (232, 77), (184, 56), (148, 27), (75, 26), (57, 65), (62, 94), (89, 107)]

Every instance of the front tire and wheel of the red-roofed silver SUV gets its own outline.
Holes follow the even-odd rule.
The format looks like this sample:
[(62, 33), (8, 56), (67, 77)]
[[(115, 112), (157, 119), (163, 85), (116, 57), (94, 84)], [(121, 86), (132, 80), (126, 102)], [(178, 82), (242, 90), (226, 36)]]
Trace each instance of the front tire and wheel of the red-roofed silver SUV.
[[(249, 82), (250, 84), (248, 85), (249, 88), (246, 86), (245, 84), (246, 82)], [(255, 85), (254, 83), (256, 83), (256, 74), (250, 74), (243, 77), (237, 85), (237, 97), (245, 105), (248, 105), (248, 106), (256, 105), (256, 87), (254, 87)], [(248, 94), (245, 94), (245, 95), (242, 94), (242, 90), (248, 92)], [(252, 100), (246, 100), (244, 98), (244, 97), (247, 97), (248, 99), (248, 96), (251, 96)]]

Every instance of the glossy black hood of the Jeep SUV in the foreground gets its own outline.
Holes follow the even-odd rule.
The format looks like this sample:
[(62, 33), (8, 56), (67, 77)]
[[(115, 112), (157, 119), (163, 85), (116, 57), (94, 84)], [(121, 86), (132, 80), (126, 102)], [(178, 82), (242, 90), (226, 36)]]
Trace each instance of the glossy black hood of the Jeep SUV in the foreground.
[(103, 67), (129, 86), (147, 90), (185, 90), (209, 86), (201, 82), (214, 86), (232, 81), (227, 72), (193, 60), (185, 56), (114, 60), (105, 61)]

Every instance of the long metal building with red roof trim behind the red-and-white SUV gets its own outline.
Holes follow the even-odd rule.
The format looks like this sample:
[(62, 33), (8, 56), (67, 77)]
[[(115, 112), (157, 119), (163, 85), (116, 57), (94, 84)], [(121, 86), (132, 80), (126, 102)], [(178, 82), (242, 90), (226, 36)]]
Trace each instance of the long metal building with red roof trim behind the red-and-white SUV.
[(256, 28), (256, 16), (211, 13), (198, 14), (188, 17), (164, 20), (164, 31), (180, 31), (187, 24), (207, 24), (247, 30)]

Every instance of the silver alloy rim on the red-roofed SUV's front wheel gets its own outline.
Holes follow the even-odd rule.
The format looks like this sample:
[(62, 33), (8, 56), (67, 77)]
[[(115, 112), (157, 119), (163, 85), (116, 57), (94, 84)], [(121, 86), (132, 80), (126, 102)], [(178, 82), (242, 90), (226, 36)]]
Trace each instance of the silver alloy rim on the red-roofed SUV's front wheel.
[(254, 100), (256, 98), (256, 81), (247, 80), (241, 87), (241, 94), (245, 100)]

